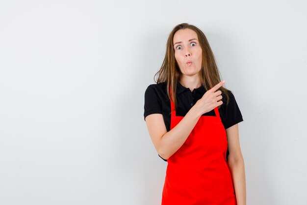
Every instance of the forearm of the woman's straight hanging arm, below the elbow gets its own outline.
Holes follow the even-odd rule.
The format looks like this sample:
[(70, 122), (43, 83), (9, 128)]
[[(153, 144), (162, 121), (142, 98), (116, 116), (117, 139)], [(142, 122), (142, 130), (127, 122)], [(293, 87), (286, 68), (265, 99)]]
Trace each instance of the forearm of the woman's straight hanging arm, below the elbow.
[(235, 190), (237, 205), (246, 205), (246, 182), (243, 157), (237, 161), (229, 161), (232, 182)]

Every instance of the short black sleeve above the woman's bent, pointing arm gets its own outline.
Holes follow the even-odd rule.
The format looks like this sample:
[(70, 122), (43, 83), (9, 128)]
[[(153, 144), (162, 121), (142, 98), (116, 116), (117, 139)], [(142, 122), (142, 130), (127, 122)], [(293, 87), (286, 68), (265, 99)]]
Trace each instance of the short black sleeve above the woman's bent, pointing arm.
[(162, 103), (157, 91), (152, 86), (149, 86), (145, 90), (144, 120), (145, 117), (155, 113), (162, 114)]

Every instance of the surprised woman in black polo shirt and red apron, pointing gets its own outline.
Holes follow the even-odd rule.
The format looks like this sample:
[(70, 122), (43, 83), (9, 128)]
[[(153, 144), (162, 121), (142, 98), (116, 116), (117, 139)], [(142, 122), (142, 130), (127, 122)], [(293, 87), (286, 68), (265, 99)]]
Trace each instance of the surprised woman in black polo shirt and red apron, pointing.
[(205, 34), (177, 25), (156, 74), (157, 84), (145, 91), (144, 119), (168, 162), (162, 205), (246, 205), (243, 118)]

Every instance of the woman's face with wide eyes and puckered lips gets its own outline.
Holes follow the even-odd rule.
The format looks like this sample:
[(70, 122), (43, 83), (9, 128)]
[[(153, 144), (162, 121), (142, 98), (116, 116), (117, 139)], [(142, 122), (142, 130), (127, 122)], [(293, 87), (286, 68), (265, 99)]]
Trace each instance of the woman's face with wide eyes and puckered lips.
[(173, 42), (175, 59), (181, 73), (187, 76), (198, 75), (202, 68), (203, 53), (197, 33), (192, 29), (180, 29), (176, 31)]

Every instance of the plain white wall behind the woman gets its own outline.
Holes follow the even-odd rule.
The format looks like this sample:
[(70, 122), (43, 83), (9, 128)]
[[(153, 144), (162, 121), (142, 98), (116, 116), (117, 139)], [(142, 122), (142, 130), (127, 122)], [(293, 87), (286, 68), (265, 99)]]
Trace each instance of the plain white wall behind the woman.
[(307, 204), (305, 0), (0, 1), (0, 205), (159, 205), (144, 92), (202, 29), (244, 121), (248, 205)]

